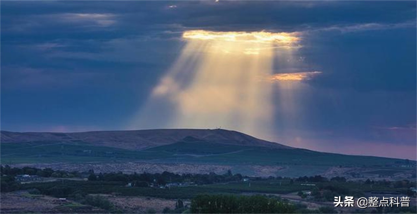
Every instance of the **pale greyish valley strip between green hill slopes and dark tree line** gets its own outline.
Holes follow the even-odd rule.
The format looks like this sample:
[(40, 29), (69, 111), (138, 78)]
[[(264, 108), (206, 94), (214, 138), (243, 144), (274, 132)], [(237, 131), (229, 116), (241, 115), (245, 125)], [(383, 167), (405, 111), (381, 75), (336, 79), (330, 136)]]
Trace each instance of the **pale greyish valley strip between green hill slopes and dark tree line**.
[(339, 167), (339, 166), (309, 166), (309, 165), (220, 165), (220, 164), (187, 164), (187, 163), (156, 163), (149, 161), (114, 161), (89, 163), (31, 163), (8, 164), (12, 167), (51, 168), (64, 171), (89, 171), (97, 173), (123, 172), (132, 173), (162, 173), (164, 171), (175, 174), (224, 174), (228, 170), (246, 176), (314, 176), (322, 175), (328, 178), (343, 176), (348, 180), (398, 181), (403, 179), (415, 180), (415, 168), (375, 168), (375, 167)]

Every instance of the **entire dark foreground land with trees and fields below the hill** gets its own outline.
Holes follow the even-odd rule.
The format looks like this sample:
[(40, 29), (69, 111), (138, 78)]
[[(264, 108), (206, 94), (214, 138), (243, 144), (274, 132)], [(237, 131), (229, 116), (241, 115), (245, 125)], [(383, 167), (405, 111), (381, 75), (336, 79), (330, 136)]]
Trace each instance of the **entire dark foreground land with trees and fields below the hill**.
[[(1, 167), (1, 213), (416, 213), (415, 181), (322, 176), (123, 174)], [(334, 196), (409, 197), (407, 207), (334, 207)], [(214, 206), (213, 204), (216, 204)]]

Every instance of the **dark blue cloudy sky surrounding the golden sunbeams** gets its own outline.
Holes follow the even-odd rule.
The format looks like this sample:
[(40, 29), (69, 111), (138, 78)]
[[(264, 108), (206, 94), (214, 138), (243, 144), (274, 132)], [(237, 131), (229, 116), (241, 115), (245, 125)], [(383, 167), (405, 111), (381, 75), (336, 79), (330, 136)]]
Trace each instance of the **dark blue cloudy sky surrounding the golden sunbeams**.
[[(132, 121), (190, 47), (184, 32), (264, 31), (298, 40), (271, 49), (269, 132), (251, 135), (417, 159), (415, 1), (1, 1), (0, 10), (1, 130), (216, 128)], [(282, 81), (293, 73), (308, 75)]]

